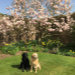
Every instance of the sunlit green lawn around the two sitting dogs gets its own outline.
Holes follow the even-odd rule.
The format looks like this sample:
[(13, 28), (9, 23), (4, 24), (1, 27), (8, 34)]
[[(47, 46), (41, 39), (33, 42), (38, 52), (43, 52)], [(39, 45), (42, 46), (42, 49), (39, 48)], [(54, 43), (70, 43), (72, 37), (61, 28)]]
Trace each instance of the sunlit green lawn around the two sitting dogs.
[[(29, 58), (32, 53), (29, 53)], [(11, 56), (0, 60), (0, 75), (75, 75), (75, 58), (61, 55), (38, 53), (42, 70), (22, 72), (17, 66), (21, 56)]]

